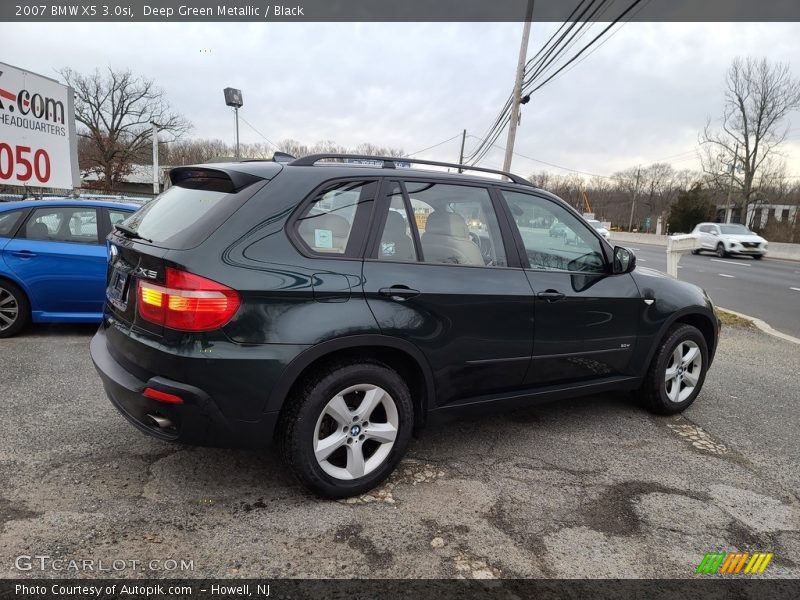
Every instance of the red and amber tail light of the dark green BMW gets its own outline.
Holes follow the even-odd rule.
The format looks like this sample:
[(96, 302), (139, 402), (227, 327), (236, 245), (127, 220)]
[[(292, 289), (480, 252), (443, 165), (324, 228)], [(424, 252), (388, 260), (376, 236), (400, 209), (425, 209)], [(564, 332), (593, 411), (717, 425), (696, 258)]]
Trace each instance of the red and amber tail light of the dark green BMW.
[(230, 322), (241, 304), (236, 290), (170, 267), (164, 285), (140, 279), (137, 292), (139, 316), (180, 331), (219, 329)]

